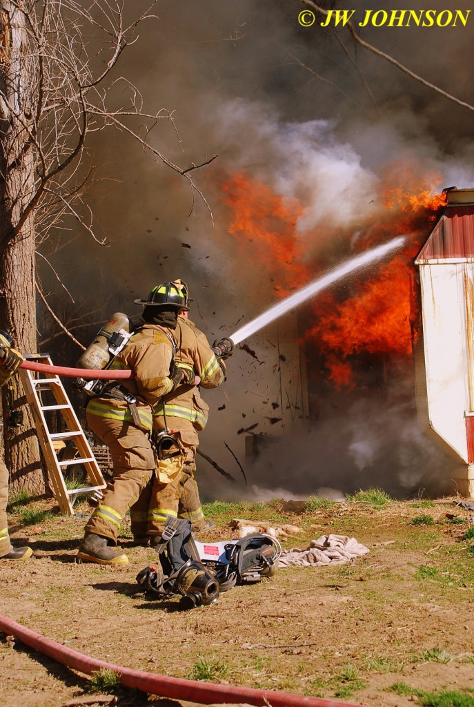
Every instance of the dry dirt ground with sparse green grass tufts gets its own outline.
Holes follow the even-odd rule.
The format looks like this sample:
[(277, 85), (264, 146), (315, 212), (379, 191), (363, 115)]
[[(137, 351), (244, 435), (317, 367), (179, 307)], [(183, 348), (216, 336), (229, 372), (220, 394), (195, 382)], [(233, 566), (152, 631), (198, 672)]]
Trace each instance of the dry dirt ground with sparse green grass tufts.
[[(25, 507), (9, 515), (13, 542), (28, 542), (35, 556), (0, 561), (1, 614), (93, 658), (156, 674), (373, 707), (420, 703), (420, 691), (466, 691), (462, 705), (474, 705), (474, 526), (454, 501), (352, 501), (303, 513), (277, 501), (211, 504), (218, 527), (201, 540), (230, 539), (230, 520), (249, 518), (300, 527), (286, 549), (336, 533), (370, 551), (340, 566), (280, 568), (188, 611), (138, 591), (136, 573), (155, 554), (131, 547), (126, 523), (128, 566), (78, 564), (85, 518), (37, 501), (28, 508), (50, 514), (35, 525), (25, 525)], [(57, 707), (89, 694), (88, 677), (0, 638), (4, 704)], [(118, 704), (189, 703), (122, 689)]]

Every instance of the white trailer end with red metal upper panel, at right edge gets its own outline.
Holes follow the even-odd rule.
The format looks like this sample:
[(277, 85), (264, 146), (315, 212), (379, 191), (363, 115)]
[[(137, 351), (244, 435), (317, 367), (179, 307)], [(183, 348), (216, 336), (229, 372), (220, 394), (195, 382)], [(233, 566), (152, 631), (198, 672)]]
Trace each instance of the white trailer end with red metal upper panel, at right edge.
[[(415, 265), (421, 341), (415, 349), (421, 423), (451, 452), (449, 479), (474, 496), (474, 189), (444, 190), (447, 204)], [(422, 355), (424, 351), (424, 356)]]

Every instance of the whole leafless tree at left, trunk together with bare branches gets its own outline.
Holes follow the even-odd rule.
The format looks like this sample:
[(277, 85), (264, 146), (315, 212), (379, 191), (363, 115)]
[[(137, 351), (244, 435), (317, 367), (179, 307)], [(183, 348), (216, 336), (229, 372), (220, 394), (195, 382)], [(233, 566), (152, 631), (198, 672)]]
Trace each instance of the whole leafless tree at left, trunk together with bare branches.
[[(106, 245), (81, 197), (89, 133), (115, 127), (129, 134), (208, 206), (191, 171), (215, 156), (186, 168), (170, 161), (150, 135), (162, 119), (173, 124), (172, 114), (145, 112), (139, 90), (115, 73), (124, 49), (138, 38), (138, 25), (155, 18), (157, 4), (138, 3), (138, 14), (127, 23), (126, 3), (112, 0), (0, 0), (0, 329), (23, 353), (37, 346), (35, 240), (42, 243), (49, 228), (73, 218)], [(37, 439), (18, 376), (1, 392), (6, 414), (23, 411), (23, 425), (7, 424), (4, 434), (13, 484), (42, 491)]]

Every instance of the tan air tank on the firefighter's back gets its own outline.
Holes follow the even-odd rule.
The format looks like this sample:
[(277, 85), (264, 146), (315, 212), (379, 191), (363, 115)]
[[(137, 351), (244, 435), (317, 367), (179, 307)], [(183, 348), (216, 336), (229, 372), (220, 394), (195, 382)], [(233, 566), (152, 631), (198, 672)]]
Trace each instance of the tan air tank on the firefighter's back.
[(116, 356), (131, 337), (131, 322), (123, 312), (114, 312), (107, 324), (94, 337), (77, 362), (78, 368), (107, 368), (111, 356)]

